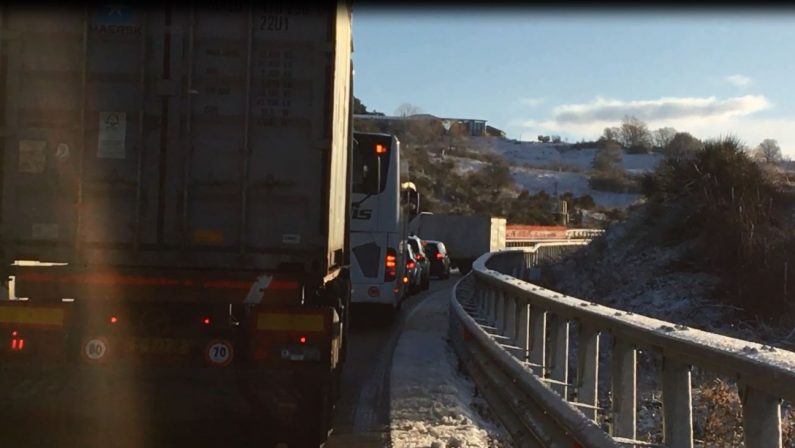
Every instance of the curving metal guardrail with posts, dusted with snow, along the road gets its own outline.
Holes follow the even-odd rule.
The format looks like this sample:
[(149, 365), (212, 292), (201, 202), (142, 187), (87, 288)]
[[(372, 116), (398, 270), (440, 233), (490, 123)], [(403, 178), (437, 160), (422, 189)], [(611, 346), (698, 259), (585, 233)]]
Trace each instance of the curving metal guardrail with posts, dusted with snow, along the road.
[[(522, 280), (583, 242), (481, 256), (453, 290), (450, 339), (518, 446), (649, 446), (637, 440), (637, 352), (662, 359), (666, 447), (693, 447), (691, 369), (736, 379), (745, 446), (782, 446), (781, 400), (795, 401), (795, 353), (565, 296)], [(569, 378), (576, 327), (576, 378)], [(609, 335), (611, 394), (598, 403), (600, 336)], [(597, 424), (607, 412), (609, 429)], [(659, 445), (657, 445), (659, 446)]]

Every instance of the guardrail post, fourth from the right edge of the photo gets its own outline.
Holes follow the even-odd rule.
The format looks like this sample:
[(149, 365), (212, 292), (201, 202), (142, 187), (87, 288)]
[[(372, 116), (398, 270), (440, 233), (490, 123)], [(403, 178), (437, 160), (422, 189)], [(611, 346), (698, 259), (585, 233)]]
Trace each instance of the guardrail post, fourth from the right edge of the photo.
[(596, 421), (599, 390), (599, 332), (580, 324), (577, 341), (577, 402), (589, 407), (580, 410)]

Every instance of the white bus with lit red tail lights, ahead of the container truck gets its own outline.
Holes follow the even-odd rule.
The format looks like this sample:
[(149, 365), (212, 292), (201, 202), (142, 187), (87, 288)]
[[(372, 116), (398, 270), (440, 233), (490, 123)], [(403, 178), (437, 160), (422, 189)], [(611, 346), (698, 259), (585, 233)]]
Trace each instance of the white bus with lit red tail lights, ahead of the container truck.
[(355, 132), (351, 186), (351, 302), (384, 305), (394, 315), (406, 295), (406, 237), (419, 197), (403, 183), (400, 142)]

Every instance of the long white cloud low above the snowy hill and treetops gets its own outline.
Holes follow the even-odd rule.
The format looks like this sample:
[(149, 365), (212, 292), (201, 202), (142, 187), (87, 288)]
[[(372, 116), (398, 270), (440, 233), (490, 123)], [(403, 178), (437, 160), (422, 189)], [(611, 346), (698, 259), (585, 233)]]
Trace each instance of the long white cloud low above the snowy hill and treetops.
[(782, 153), (795, 159), (795, 117), (759, 117), (755, 113), (771, 107), (763, 96), (740, 96), (723, 100), (706, 98), (661, 98), (629, 101), (597, 98), (585, 104), (567, 104), (553, 109), (549, 119), (517, 119), (509, 123), (535, 135), (557, 134), (569, 141), (596, 139), (604, 128), (618, 126), (624, 115), (643, 120), (649, 129), (671, 126), (700, 139), (734, 135), (749, 147), (766, 138), (778, 140)]

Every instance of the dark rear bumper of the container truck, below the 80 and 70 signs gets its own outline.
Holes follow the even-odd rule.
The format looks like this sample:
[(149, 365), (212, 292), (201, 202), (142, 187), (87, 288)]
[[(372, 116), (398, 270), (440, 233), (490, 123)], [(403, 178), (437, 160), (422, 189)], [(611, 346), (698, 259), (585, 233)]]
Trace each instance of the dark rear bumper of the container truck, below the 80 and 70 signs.
[[(289, 424), (328, 367), (188, 368), (49, 366), (0, 368), (0, 422), (30, 420), (188, 422), (261, 419)], [(1, 424), (1, 423), (0, 423)]]

